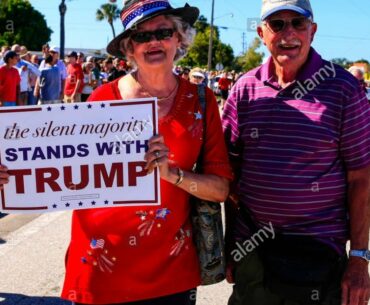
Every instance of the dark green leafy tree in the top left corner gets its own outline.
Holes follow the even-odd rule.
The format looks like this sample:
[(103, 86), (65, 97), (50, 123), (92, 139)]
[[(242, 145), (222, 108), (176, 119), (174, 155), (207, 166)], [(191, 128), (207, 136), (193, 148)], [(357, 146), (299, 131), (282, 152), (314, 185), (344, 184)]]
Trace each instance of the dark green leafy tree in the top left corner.
[(30, 50), (40, 50), (52, 32), (45, 17), (28, 1), (0, 1), (0, 45), (17, 43)]

